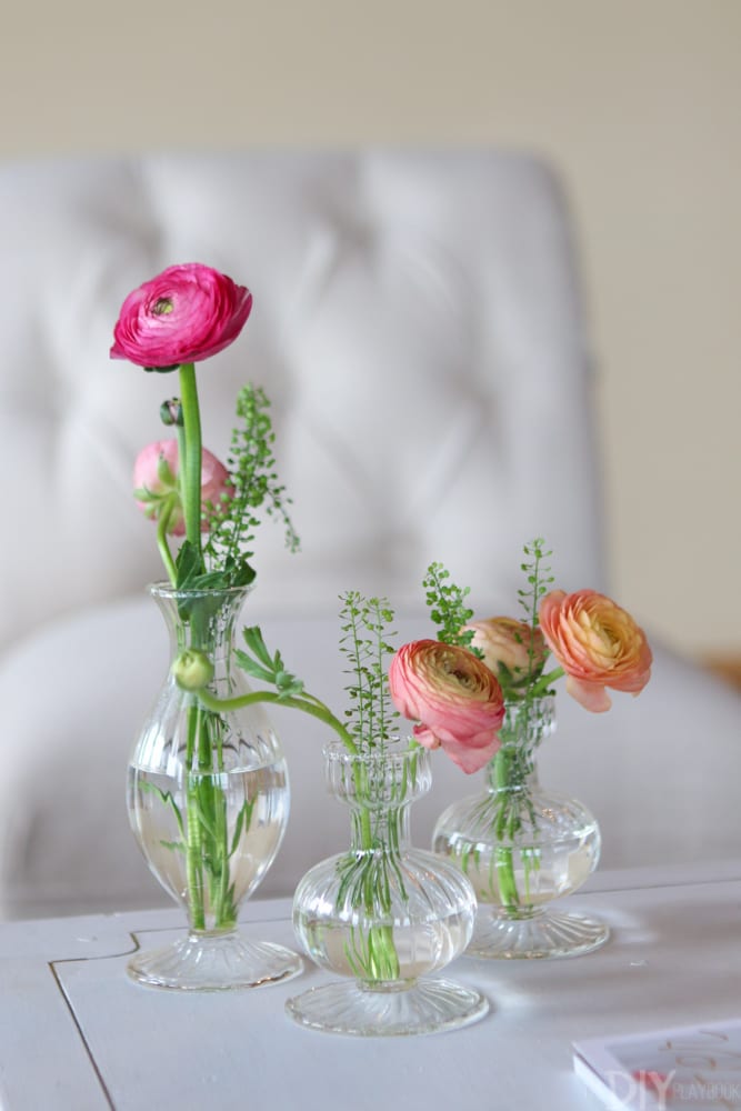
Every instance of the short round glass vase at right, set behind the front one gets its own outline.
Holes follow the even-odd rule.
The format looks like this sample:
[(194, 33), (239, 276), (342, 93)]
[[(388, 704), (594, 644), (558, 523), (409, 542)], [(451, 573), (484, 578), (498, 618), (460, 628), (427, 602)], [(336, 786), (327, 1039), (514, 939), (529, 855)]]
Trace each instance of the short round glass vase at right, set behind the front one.
[(585, 807), (538, 782), (537, 749), (555, 729), (554, 703), (508, 703), (485, 790), (454, 802), (434, 828), (434, 851), (454, 860), (477, 893), (468, 955), (574, 957), (609, 935), (602, 922), (550, 905), (585, 882), (601, 844)]

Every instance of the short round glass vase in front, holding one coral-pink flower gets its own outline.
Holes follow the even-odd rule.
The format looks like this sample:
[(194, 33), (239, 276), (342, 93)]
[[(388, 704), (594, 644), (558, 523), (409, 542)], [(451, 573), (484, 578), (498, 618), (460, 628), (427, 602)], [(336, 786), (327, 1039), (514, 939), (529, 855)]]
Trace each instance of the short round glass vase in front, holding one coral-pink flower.
[(351, 754), (324, 749), (327, 781), (351, 813), (347, 852), (312, 868), (293, 900), (307, 953), (346, 979), (289, 1000), (316, 1030), (359, 1035), (431, 1033), (481, 1018), (487, 1000), (429, 977), (463, 952), (475, 898), (460, 869), (412, 848), (411, 803), (431, 782), (430, 754), (399, 741)]

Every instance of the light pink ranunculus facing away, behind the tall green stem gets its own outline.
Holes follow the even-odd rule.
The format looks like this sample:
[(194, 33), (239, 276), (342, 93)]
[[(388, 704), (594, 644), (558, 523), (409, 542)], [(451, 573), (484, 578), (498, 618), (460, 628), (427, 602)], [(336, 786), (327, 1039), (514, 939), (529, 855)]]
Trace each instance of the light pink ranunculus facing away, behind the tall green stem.
[[(133, 464), (133, 487), (138, 504), (147, 517), (158, 520), (160, 513), (170, 513), (167, 531), (173, 537), (186, 533), (186, 520), (178, 488), (180, 460), (177, 440), (156, 440), (137, 456)], [(219, 506), (221, 496), (231, 489), (229, 471), (207, 448), (201, 454), (201, 501)], [(201, 529), (208, 531), (208, 521)]]

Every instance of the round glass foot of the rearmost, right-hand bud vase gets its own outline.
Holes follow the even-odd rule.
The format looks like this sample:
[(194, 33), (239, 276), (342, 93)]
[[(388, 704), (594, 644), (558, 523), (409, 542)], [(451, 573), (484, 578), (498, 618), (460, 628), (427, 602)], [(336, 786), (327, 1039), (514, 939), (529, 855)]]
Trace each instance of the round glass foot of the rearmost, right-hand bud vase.
[(484, 960), (548, 960), (599, 949), (610, 928), (584, 914), (548, 910), (532, 918), (487, 914), (480, 909), (467, 957)]

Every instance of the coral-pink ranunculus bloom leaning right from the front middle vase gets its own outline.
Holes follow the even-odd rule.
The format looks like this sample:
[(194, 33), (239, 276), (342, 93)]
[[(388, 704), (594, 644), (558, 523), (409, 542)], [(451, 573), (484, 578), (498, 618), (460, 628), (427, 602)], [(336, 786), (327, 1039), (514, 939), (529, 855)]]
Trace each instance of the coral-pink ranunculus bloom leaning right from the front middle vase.
[(391, 659), (389, 689), (397, 709), (419, 722), (413, 733), (420, 744), (442, 745), (464, 772), (483, 768), (497, 752), (501, 687), (467, 649), (439, 640), (403, 644)]

